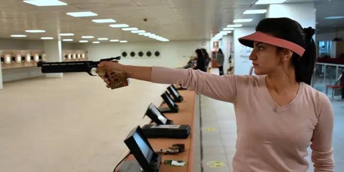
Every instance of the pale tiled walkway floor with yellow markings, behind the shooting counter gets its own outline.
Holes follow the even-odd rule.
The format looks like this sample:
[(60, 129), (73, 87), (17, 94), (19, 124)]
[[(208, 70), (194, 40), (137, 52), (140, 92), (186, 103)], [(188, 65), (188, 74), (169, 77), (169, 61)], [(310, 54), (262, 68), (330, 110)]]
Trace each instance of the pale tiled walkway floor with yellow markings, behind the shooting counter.
[[(212, 69), (212, 73), (218, 74), (219, 71)], [(335, 172), (343, 172), (344, 100), (340, 100), (340, 96), (337, 96), (332, 101), (332, 106), (335, 113), (333, 133)], [(231, 103), (200, 96), (200, 107), (203, 172), (232, 172), (232, 157), (237, 139), (234, 106)], [(308, 151), (310, 154), (309, 148)], [(306, 159), (310, 164), (307, 172), (313, 172), (310, 156)], [(220, 167), (214, 166), (214, 161), (217, 161), (216, 164)]]

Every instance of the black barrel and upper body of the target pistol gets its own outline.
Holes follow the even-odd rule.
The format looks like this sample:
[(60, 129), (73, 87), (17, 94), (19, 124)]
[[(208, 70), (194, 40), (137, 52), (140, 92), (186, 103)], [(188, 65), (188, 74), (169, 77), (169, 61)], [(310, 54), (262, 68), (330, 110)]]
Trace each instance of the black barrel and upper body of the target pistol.
[(74, 61), (74, 62), (38, 62), (37, 67), (42, 67), (42, 73), (69, 73), (86, 72), (91, 76), (97, 76), (91, 73), (92, 68), (97, 68), (101, 61), (120, 60), (121, 56), (101, 59), (99, 61)]

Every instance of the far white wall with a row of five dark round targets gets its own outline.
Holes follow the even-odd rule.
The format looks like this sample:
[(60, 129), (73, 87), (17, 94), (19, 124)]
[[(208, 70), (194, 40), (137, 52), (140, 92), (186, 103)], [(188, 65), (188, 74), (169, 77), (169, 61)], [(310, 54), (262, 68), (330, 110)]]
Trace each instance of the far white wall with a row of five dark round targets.
[[(122, 64), (138, 65), (138, 66), (164, 66), (164, 67), (183, 67), (190, 60), (190, 56), (195, 56), (195, 50), (199, 48), (209, 51), (209, 41), (171, 41), (171, 42), (137, 42), (137, 43), (100, 43), (100, 44), (74, 44), (74, 49), (84, 49), (88, 51), (89, 60), (99, 60), (115, 56), (122, 56), (122, 52), (126, 51), (128, 56), (121, 59)], [(64, 44), (64, 43), (62, 43)], [(69, 47), (71, 47), (69, 45)], [(136, 56), (129, 57), (129, 53), (134, 51)], [(144, 57), (140, 58), (137, 54), (143, 51), (151, 51), (154, 56), (155, 51), (160, 52), (161, 58)], [(146, 56), (146, 55), (145, 55)]]

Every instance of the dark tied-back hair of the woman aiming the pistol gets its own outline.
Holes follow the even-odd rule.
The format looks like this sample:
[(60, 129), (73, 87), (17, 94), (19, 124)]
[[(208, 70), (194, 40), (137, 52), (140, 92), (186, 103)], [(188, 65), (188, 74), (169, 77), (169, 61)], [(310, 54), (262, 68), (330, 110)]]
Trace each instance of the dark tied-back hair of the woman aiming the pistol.
[[(256, 31), (271, 34), (303, 47), (305, 52), (302, 57), (296, 53), (292, 56), (295, 78), (298, 82), (311, 83), (317, 59), (316, 45), (312, 39), (315, 30), (312, 27), (302, 28), (298, 22), (289, 18), (267, 18), (259, 22)], [(278, 48), (277, 51), (281, 49), (283, 48)]]

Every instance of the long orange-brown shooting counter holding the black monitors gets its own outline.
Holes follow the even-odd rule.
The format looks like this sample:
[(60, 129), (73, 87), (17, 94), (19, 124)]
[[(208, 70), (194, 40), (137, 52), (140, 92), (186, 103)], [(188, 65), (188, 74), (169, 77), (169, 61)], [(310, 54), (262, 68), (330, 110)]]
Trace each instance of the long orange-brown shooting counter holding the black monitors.
[[(162, 155), (162, 164), (159, 172), (200, 172), (200, 130), (199, 130), (199, 103), (195, 92), (188, 90), (178, 90), (184, 101), (177, 103), (178, 113), (164, 113), (174, 124), (188, 124), (192, 131), (187, 139), (150, 138), (148, 139), (153, 149), (171, 147), (173, 144), (185, 144), (185, 151), (174, 155)], [(162, 107), (166, 107), (163, 104)], [(135, 160), (133, 155), (129, 155), (125, 161)], [(165, 160), (183, 160), (184, 167), (177, 167), (164, 164)], [(125, 162), (124, 161), (124, 162)], [(121, 164), (123, 165), (123, 163)], [(121, 166), (120, 165), (120, 166)], [(119, 167), (118, 169), (120, 169)], [(118, 172), (117, 169), (117, 172)]]

